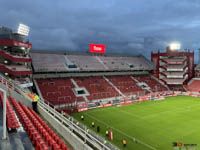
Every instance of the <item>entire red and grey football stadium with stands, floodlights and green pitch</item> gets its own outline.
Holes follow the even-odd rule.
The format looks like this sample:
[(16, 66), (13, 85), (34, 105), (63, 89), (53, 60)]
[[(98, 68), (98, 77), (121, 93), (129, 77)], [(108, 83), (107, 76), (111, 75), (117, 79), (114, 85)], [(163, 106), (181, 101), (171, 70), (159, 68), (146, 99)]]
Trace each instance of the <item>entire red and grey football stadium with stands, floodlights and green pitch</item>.
[(0, 28), (2, 150), (200, 148), (193, 51), (172, 43), (149, 60), (99, 43), (87, 52), (31, 50), (21, 26)]

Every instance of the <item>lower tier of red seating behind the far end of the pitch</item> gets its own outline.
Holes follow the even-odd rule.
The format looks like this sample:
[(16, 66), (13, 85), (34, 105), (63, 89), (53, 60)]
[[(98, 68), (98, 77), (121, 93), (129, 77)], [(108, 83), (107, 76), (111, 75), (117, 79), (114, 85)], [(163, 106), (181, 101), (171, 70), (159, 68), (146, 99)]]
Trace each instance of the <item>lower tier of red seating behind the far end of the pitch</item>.
[[(87, 100), (92, 102), (109, 98), (115, 99), (121, 96), (168, 91), (164, 85), (149, 75), (51, 78), (36, 79), (36, 82), (44, 99), (54, 106), (64, 107), (66, 105), (66, 108), (69, 104), (75, 106), (78, 103), (85, 103)], [(86, 89), (88, 92), (87, 100), (83, 96), (76, 95), (75, 88)]]

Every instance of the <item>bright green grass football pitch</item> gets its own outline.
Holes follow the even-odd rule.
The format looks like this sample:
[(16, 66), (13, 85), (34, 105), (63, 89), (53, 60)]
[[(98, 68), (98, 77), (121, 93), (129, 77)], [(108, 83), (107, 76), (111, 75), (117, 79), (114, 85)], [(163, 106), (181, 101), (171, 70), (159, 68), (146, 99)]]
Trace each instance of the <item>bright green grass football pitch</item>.
[[(80, 116), (84, 115), (84, 121)], [(127, 150), (173, 150), (172, 142), (197, 144), (200, 149), (200, 98), (169, 97), (127, 106), (113, 106), (72, 114), (81, 123), (100, 126), (100, 135), (112, 129), (114, 143)], [(134, 142), (133, 138), (140, 142)], [(123, 148), (122, 140), (127, 140)]]

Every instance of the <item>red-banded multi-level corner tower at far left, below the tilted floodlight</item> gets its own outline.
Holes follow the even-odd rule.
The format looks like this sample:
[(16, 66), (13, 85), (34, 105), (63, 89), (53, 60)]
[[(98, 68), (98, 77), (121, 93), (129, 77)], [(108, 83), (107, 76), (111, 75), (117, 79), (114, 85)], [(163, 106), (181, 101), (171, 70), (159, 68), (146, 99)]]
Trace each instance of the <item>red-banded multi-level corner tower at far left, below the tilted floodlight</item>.
[(21, 87), (33, 85), (31, 79), (32, 59), (29, 51), (32, 44), (25, 41), (25, 36), (13, 33), (6, 27), (0, 28), (0, 72), (16, 81)]

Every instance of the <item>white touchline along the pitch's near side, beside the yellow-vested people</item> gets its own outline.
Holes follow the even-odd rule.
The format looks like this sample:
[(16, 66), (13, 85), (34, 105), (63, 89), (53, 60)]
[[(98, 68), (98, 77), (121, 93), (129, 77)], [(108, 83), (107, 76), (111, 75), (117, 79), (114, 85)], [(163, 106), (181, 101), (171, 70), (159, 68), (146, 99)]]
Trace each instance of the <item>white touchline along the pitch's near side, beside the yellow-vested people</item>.
[[(124, 133), (123, 131), (121, 131), (121, 130), (119, 130), (119, 129), (117, 129), (117, 128), (114, 128), (114, 127), (112, 127), (112, 126), (110, 126), (110, 125), (108, 125), (108, 124), (106, 124), (105, 122), (96, 119), (95, 117), (93, 117), (93, 116), (91, 116), (91, 115), (88, 115), (88, 114), (85, 114), (85, 115), (88, 116), (88, 117), (90, 117), (90, 118), (92, 118), (92, 119), (94, 119), (94, 120), (96, 120), (96, 121), (101, 122), (102, 124), (104, 124), (104, 125), (106, 125), (106, 126), (108, 126), (108, 127), (111, 127), (112, 129), (114, 129), (114, 130), (120, 132), (121, 134), (123, 134), (123, 135), (129, 137), (130, 139), (133, 139), (133, 138), (134, 138), (134, 137), (132, 137), (132, 136), (130, 136), (130, 135)], [(136, 139), (136, 138), (135, 138), (135, 139)], [(150, 149), (152, 149), (152, 150), (157, 150), (155, 147), (153, 147), (153, 146), (151, 146), (151, 145), (149, 145), (149, 144), (146, 144), (146, 143), (142, 142), (142, 141), (139, 140), (139, 139), (136, 139), (136, 140), (137, 140), (139, 143), (141, 143), (142, 145), (145, 145), (146, 147), (148, 147), (148, 148), (150, 148)]]

